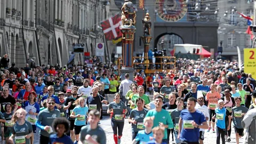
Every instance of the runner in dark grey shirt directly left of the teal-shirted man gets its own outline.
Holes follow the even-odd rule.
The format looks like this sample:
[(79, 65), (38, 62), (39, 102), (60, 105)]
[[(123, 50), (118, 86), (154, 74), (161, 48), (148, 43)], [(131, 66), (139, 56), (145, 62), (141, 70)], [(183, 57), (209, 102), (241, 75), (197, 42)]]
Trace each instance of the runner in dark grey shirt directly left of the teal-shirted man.
[(138, 131), (144, 129), (143, 119), (148, 113), (148, 110), (144, 108), (144, 101), (141, 98), (138, 98), (135, 102), (136, 102), (137, 108), (131, 111), (131, 114), (128, 120), (129, 123), (132, 124), (132, 140), (135, 139), (135, 137), (138, 134)]

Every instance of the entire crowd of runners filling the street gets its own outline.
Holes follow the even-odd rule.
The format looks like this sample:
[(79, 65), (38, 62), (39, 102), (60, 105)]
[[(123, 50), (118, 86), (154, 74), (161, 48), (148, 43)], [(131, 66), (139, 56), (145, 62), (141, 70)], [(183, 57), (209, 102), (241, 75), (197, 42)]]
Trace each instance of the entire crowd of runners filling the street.
[[(71, 68), (33, 62), (9, 67), (8, 58), (2, 59), (0, 134), (6, 143), (33, 143), (35, 137), (42, 144), (107, 143), (102, 104), (108, 106), (115, 144), (209, 143), (205, 132), (217, 135), (214, 143), (225, 143), (232, 130), (239, 143), (256, 115), (255, 80), (236, 61), (177, 59), (173, 70), (121, 75), (115, 64), (97, 58)], [(126, 122), (133, 141), (122, 141)]]

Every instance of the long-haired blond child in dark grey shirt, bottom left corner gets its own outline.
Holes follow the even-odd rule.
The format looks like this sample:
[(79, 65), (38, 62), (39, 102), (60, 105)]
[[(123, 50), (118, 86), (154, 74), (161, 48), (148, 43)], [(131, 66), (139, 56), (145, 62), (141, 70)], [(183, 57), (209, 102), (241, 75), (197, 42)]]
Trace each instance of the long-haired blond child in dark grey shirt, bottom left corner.
[(9, 143), (30, 143), (30, 137), (34, 137), (32, 125), (25, 120), (26, 110), (23, 108), (18, 109), (12, 116), (12, 135), (9, 138)]

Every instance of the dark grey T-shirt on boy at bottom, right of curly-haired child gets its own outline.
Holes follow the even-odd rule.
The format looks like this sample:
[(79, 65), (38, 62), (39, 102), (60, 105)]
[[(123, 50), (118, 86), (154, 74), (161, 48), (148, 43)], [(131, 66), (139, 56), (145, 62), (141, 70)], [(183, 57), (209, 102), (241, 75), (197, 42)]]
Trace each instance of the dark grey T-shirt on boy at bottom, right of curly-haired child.
[(101, 144), (106, 144), (106, 133), (104, 130), (98, 126), (96, 129), (92, 130), (90, 125), (83, 126), (80, 132), (79, 140), (81, 140), (83, 143), (89, 143), (85, 140), (85, 136), (89, 134), (91, 135), (92, 139), (97, 141)]

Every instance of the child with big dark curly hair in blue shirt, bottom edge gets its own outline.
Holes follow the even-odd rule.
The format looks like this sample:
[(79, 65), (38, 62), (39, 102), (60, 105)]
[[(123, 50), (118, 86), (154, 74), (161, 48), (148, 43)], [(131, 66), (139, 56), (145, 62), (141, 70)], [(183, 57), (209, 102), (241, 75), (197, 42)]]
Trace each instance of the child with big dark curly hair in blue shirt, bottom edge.
[(69, 130), (69, 121), (64, 118), (56, 118), (53, 121), (52, 127), (56, 134), (50, 135), (49, 144), (73, 144), (73, 141), (65, 133)]

